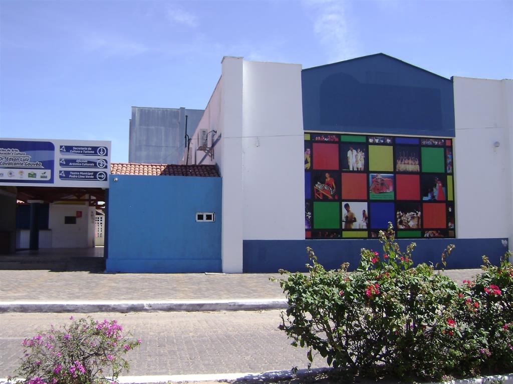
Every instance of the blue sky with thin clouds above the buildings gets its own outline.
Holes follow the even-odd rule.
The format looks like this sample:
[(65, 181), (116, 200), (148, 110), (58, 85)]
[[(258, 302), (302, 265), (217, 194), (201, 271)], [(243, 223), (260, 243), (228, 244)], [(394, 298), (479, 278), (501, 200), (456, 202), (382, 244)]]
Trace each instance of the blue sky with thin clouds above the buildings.
[(512, 1), (0, 0), (0, 137), (112, 141), (132, 105), (204, 109), (223, 56), (303, 68), (383, 52), (513, 78)]

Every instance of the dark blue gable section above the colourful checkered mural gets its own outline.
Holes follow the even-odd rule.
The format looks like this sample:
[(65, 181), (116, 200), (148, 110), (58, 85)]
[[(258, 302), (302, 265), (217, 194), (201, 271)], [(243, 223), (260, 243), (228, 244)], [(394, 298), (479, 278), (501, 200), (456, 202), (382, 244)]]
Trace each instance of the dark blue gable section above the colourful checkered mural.
[(305, 131), (455, 136), (452, 80), (378, 53), (304, 69)]

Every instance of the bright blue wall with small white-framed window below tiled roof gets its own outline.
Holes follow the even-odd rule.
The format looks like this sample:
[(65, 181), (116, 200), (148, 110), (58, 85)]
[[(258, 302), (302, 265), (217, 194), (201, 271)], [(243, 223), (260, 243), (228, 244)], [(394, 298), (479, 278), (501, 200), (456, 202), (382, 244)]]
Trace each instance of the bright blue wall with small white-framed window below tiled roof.
[(107, 272), (221, 272), (221, 190), (217, 177), (111, 175)]

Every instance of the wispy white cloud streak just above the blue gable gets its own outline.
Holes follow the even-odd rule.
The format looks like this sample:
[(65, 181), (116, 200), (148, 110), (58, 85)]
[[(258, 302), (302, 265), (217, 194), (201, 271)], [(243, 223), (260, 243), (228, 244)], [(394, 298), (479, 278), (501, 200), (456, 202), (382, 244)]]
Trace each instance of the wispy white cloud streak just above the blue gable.
[(356, 56), (356, 34), (348, 16), (349, 3), (334, 0), (305, 0), (306, 11), (313, 19), (313, 32), (329, 61)]

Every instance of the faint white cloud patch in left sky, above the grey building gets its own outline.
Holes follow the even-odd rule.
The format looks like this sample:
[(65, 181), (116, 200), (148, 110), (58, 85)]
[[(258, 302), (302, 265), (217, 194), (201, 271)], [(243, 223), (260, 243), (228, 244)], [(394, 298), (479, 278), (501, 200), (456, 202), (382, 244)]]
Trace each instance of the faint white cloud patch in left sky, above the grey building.
[(139, 42), (119, 36), (90, 34), (84, 36), (82, 40), (86, 50), (106, 56), (135, 56), (148, 50), (145, 45)]

